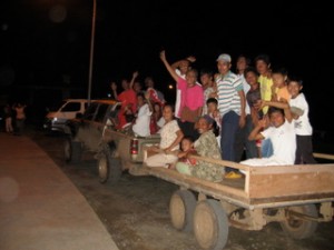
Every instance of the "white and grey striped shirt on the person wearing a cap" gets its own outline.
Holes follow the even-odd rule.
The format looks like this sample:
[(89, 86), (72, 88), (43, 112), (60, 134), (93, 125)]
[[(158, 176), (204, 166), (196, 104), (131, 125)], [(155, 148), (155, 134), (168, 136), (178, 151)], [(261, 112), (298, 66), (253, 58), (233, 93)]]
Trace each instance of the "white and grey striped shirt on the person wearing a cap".
[(226, 76), (216, 79), (218, 90), (218, 109), (223, 117), (229, 111), (242, 113), (242, 101), (238, 91), (243, 90), (243, 81), (235, 73), (228, 71)]

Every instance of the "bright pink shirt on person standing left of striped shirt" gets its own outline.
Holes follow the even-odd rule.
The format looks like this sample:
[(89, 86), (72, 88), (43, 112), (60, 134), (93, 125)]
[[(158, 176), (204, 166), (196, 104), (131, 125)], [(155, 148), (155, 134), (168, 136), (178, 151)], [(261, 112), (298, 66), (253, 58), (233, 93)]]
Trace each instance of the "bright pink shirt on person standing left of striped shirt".
[(183, 78), (178, 78), (177, 83), (177, 89), (179, 89), (181, 92), (180, 109), (178, 116), (180, 116), (184, 107), (188, 107), (190, 110), (196, 110), (203, 107), (204, 93), (200, 86), (195, 83), (189, 88), (187, 81)]

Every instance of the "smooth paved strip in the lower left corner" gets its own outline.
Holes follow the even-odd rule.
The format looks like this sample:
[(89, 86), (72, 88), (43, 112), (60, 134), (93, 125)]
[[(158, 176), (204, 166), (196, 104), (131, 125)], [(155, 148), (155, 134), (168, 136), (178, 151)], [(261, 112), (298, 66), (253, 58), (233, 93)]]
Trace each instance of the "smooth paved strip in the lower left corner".
[(85, 197), (30, 138), (0, 132), (1, 250), (118, 250)]

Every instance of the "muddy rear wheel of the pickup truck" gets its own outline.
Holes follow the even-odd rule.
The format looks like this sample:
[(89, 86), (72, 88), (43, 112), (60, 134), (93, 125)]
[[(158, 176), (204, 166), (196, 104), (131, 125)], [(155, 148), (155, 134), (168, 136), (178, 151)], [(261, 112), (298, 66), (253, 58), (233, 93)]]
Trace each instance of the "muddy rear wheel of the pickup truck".
[(121, 177), (120, 161), (111, 157), (109, 147), (106, 146), (98, 158), (99, 181), (106, 183), (108, 180), (116, 183)]

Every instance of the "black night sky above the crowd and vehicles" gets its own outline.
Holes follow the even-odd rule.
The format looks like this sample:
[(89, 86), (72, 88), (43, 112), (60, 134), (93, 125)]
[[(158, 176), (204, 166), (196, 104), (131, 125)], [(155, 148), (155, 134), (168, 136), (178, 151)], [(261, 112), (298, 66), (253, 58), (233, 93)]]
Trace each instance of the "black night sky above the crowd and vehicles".
[[(106, 97), (110, 80), (138, 70), (173, 100), (161, 49), (170, 62), (195, 56), (194, 68), (214, 71), (219, 53), (267, 53), (273, 67), (303, 78), (313, 126), (332, 128), (321, 116), (334, 81), (330, 7), (202, 2), (97, 0), (92, 97)], [(0, 86), (66, 82), (87, 89), (91, 13), (92, 0), (2, 0)]]

